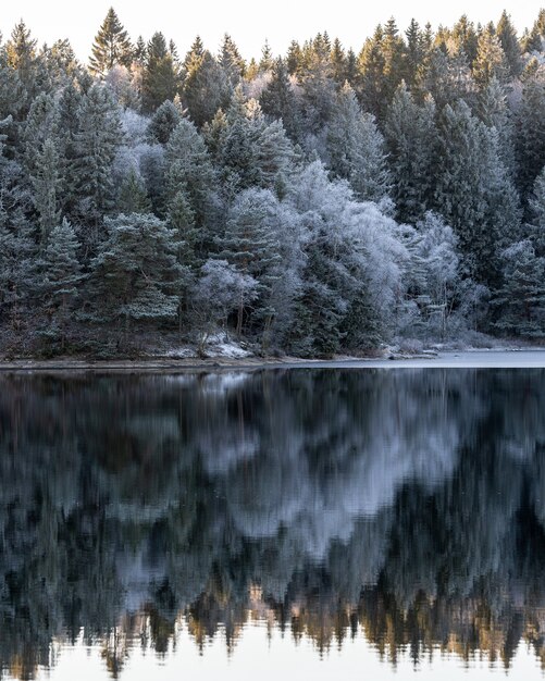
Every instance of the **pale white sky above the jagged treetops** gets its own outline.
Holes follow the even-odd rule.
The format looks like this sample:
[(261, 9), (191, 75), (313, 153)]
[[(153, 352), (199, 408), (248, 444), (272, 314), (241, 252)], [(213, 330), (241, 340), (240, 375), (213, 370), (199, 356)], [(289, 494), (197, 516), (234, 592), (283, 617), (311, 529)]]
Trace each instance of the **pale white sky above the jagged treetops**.
[[(92, 39), (112, 0), (11, 0), (2, 3), (0, 30), (7, 37), (24, 18), (39, 42), (69, 38), (76, 54), (87, 60)], [(395, 16), (406, 28), (411, 17), (422, 25), (450, 25), (466, 13), (478, 23), (497, 21), (506, 9), (519, 29), (531, 26), (545, 0), (114, 0), (113, 7), (132, 38), (149, 39), (162, 30), (184, 54), (196, 35), (215, 51), (224, 33), (231, 34), (247, 59), (259, 57), (265, 41), (275, 54), (284, 53), (292, 41), (327, 30), (346, 47), (359, 51), (379, 23)]]

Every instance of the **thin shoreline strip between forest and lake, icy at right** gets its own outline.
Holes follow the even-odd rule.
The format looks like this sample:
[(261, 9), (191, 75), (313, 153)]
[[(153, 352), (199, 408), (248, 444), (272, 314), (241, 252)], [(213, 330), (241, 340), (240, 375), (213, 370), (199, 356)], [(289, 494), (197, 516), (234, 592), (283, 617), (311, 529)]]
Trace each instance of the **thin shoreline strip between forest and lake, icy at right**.
[(445, 350), (433, 355), (389, 358), (338, 357), (331, 360), (286, 358), (138, 358), (94, 359), (0, 359), (1, 373), (191, 373), (262, 371), (282, 369), (545, 369), (545, 348)]

